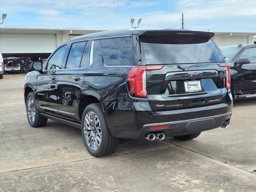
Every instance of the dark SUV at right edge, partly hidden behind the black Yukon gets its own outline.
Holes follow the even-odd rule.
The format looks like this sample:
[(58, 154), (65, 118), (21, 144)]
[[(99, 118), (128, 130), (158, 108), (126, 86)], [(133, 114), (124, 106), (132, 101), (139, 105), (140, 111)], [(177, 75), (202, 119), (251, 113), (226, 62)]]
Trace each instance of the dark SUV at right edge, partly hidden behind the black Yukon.
[(221, 48), (230, 63), (231, 93), (233, 97), (256, 97), (256, 45)]

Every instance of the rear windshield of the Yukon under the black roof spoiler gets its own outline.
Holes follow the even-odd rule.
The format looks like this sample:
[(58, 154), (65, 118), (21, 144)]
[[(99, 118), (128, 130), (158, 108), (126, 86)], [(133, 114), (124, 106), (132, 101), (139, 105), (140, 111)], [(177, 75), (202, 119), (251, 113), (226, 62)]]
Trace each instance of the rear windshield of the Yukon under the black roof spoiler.
[(224, 62), (211, 39), (199, 36), (141, 36), (146, 64)]

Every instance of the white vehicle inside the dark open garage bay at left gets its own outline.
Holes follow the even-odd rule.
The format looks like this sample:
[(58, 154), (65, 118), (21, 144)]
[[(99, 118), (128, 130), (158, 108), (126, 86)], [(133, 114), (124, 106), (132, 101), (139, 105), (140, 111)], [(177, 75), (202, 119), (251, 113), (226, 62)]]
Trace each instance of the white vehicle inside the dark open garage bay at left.
[(7, 57), (4, 62), (4, 73), (20, 73), (20, 58)]

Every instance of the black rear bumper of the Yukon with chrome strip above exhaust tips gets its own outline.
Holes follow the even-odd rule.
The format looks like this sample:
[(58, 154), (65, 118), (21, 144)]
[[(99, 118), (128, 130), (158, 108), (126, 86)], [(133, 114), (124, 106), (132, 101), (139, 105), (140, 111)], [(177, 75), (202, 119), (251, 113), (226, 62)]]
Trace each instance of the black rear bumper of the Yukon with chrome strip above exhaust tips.
[[(112, 136), (116, 138), (142, 139), (150, 132), (164, 132), (166, 137), (180, 136), (218, 128), (232, 114), (232, 95), (227, 95), (227, 103), (211, 106), (153, 112), (145, 101), (131, 103), (107, 103), (106, 121)], [(167, 128), (150, 130), (151, 126)]]

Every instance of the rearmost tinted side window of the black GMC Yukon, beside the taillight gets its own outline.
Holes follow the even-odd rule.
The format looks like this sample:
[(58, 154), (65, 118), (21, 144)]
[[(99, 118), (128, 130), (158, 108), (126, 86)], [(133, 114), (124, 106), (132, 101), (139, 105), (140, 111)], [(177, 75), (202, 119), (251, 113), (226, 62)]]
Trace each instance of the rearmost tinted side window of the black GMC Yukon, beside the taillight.
[(100, 40), (104, 64), (132, 65), (132, 37)]

